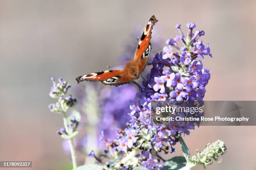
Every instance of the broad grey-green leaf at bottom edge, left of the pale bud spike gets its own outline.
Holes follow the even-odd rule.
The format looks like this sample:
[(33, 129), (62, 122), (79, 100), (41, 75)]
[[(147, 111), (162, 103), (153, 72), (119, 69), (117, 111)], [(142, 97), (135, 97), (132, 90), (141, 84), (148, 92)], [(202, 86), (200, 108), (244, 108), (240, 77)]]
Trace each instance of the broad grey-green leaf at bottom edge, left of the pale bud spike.
[(165, 162), (163, 170), (179, 170), (182, 167), (186, 166), (187, 161), (183, 156), (172, 157), (171, 159)]

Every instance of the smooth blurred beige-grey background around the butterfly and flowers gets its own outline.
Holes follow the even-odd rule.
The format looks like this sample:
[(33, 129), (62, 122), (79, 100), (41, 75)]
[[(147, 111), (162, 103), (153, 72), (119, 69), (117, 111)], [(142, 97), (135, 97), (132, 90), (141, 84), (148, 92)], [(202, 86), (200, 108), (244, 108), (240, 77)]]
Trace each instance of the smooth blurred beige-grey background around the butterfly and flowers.
[[(205, 30), (202, 40), (214, 57), (204, 60), (211, 70), (206, 100), (256, 100), (254, 0), (0, 0), (0, 160), (61, 169), (69, 157), (55, 133), (61, 115), (47, 108), (51, 76), (74, 87), (80, 74), (118, 64), (124, 45), (141, 34), (131, 37), (134, 30), (143, 30), (151, 15), (159, 20), (153, 39), (162, 37), (163, 44), (178, 34), (177, 23)], [(255, 170), (255, 134), (256, 127), (200, 127), (184, 140), (192, 153), (225, 141), (223, 162), (208, 170)]]

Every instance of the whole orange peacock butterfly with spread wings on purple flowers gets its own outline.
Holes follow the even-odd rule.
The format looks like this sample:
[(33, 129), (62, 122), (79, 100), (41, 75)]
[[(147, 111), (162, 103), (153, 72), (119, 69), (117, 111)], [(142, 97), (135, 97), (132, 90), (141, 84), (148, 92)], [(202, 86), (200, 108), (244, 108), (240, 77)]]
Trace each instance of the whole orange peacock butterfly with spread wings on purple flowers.
[(77, 83), (81, 81), (101, 81), (103, 84), (119, 86), (138, 79), (148, 62), (148, 56), (151, 51), (151, 30), (156, 22), (157, 20), (153, 15), (148, 21), (141, 39), (138, 42), (134, 59), (128, 61), (124, 69), (100, 71), (79, 76), (76, 79)]

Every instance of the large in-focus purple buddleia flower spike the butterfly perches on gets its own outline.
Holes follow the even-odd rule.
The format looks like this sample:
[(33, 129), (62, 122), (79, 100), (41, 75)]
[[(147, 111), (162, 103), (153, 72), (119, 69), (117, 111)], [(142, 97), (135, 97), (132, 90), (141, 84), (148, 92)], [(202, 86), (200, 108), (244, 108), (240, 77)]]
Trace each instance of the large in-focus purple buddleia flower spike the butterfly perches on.
[[(143, 81), (143, 90), (138, 93), (138, 103), (131, 104), (131, 120), (124, 130), (116, 130), (116, 139), (108, 140), (103, 133), (100, 137), (112, 156), (120, 157), (118, 161), (108, 163), (108, 167), (133, 168), (136, 166), (161, 169), (164, 163), (159, 152), (175, 152), (173, 145), (179, 141), (179, 134), (189, 134), (194, 125), (180, 124), (173, 126), (153, 126), (151, 124), (151, 102), (164, 101), (202, 101), (205, 86), (210, 79), (208, 69), (202, 61), (205, 55), (212, 57), (209, 45), (204, 46), (198, 39), (204, 31), (192, 32), (195, 23), (188, 23), (187, 37), (180, 24), (176, 25), (180, 35), (166, 41), (163, 52), (157, 53), (152, 63), (153, 68)], [(182, 43), (183, 47), (179, 44)], [(174, 51), (175, 50), (175, 51)], [(117, 152), (113, 152), (113, 150)], [(115, 153), (117, 155), (115, 155)], [(134, 157), (136, 157), (134, 159)]]

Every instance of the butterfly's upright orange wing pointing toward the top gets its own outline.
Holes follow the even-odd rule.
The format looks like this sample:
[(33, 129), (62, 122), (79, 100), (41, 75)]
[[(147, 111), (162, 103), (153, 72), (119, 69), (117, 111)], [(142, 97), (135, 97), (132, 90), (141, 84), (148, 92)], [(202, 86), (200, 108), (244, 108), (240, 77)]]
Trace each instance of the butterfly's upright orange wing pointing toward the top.
[[(153, 15), (149, 21), (148, 24), (146, 26), (146, 28), (144, 29), (141, 39), (138, 42), (138, 46), (137, 46), (137, 50), (134, 54), (134, 60), (141, 60), (141, 58), (147, 58), (148, 54), (150, 52), (150, 40), (151, 40), (151, 33), (152, 33), (152, 29), (153, 26), (155, 25), (155, 23), (158, 20), (156, 20), (155, 16)], [(143, 56), (143, 54), (146, 53), (146, 56)]]

